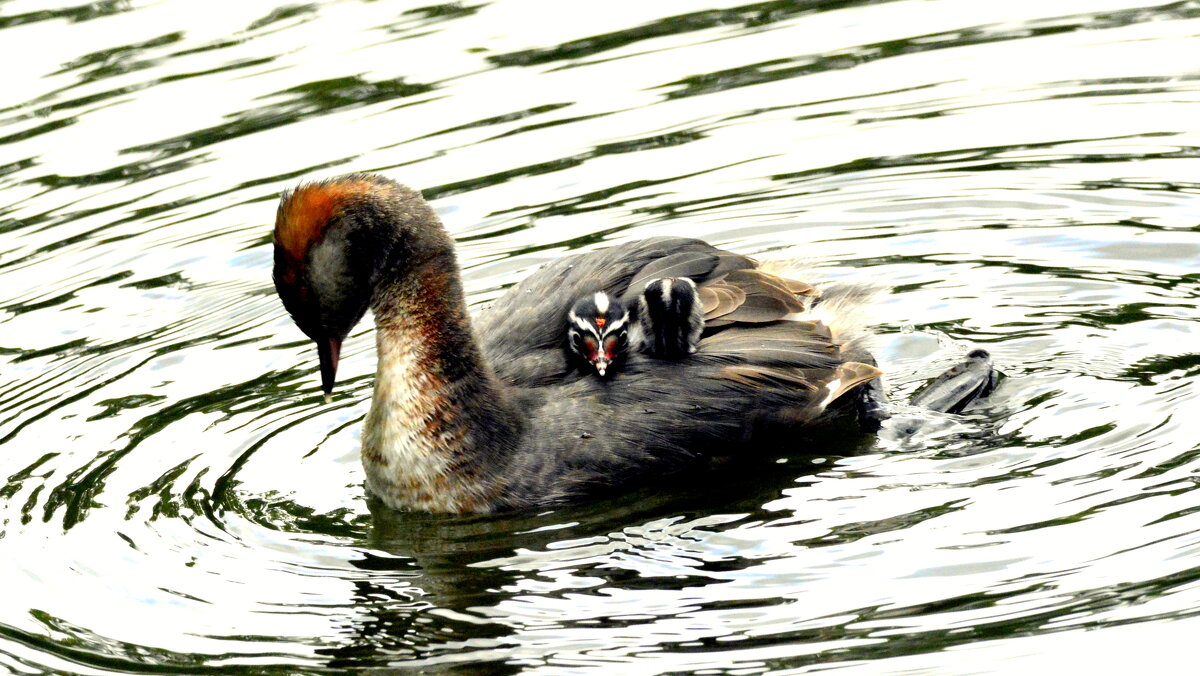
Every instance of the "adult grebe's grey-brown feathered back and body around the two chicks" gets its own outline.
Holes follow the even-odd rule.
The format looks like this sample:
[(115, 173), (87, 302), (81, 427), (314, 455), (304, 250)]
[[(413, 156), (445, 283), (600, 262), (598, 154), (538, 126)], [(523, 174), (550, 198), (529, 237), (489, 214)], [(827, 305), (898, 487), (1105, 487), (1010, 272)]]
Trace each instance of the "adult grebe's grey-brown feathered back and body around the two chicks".
[[(556, 261), (480, 313), (485, 358), (530, 412), (530, 451), (515, 474), (557, 495), (734, 453), (758, 432), (810, 424), (880, 376), (865, 347), (864, 306), (876, 289), (817, 291), (755, 267), (700, 240), (634, 241)], [(634, 352), (611, 378), (568, 367), (565, 318), (576, 299), (602, 291), (634, 305), (664, 276), (697, 285), (706, 329), (694, 354)]]

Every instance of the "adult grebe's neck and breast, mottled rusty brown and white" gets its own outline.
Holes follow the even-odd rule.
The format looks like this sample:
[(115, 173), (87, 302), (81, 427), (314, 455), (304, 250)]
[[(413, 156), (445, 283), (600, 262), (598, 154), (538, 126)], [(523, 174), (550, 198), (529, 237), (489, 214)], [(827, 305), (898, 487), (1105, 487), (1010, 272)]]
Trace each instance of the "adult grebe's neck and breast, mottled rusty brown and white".
[(378, 366), (362, 463), (389, 507), (486, 512), (506, 487), (521, 424), (475, 341), (446, 244), (376, 288)]

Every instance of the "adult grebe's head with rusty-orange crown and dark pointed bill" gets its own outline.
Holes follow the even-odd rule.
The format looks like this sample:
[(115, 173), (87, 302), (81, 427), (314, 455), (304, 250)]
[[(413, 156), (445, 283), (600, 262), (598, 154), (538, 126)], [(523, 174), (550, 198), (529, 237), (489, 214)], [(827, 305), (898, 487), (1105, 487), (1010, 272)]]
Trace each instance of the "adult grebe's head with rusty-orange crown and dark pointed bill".
[(385, 221), (401, 186), (368, 174), (284, 192), (275, 219), (275, 288), (300, 330), (317, 343), (322, 388), (334, 389), (342, 341), (362, 318), (395, 249)]

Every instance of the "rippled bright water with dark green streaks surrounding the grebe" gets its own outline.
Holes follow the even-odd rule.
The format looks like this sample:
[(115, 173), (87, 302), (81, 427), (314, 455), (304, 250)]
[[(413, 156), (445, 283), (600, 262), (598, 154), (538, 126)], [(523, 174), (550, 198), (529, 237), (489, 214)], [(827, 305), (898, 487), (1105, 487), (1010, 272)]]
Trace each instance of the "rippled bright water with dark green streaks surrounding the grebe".
[[(0, 2), (0, 671), (1190, 659), (1200, 4), (1138, 1)], [(1008, 378), (917, 439), (388, 514), (370, 329), (326, 405), (269, 279), (277, 193), (350, 171), (426, 191), (476, 304), (689, 234), (890, 285), (896, 399)]]

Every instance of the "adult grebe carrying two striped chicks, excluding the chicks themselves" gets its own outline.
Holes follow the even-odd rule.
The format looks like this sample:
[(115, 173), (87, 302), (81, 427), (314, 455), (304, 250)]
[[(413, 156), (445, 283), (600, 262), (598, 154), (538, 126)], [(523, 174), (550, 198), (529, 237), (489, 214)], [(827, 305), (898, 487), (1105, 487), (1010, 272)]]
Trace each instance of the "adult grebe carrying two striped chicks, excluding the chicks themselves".
[[(816, 289), (700, 240), (563, 257), (474, 318), (433, 210), (388, 179), (286, 195), (275, 241), (276, 287), (318, 346), (340, 346), (367, 305), (374, 313), (362, 457), (370, 490), (394, 508), (533, 507), (713, 456), (803, 450), (786, 445), (797, 429), (880, 375), (853, 321), (859, 292), (827, 292), (817, 321), (803, 315)], [(602, 292), (629, 307), (664, 277), (695, 280), (706, 322), (722, 330), (686, 359), (630, 352), (611, 378), (564, 365), (563, 318), (578, 299)], [(326, 391), (330, 354), (322, 348)]]

